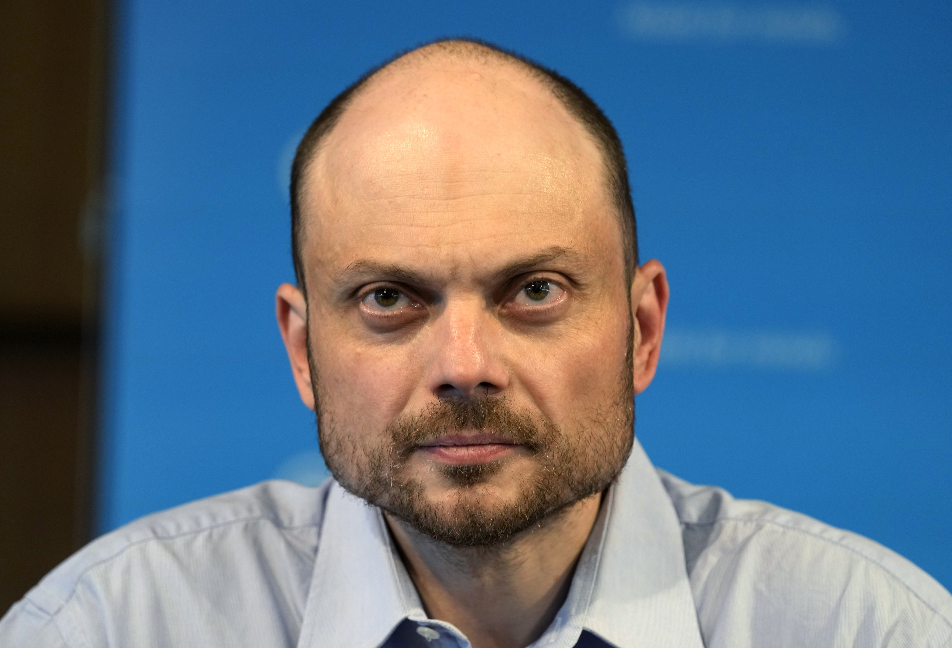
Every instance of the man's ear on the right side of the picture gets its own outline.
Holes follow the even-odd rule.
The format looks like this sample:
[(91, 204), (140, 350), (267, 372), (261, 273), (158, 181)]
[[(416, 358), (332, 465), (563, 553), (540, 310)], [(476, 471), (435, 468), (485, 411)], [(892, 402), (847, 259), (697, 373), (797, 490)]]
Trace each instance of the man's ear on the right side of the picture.
[(658, 369), (668, 286), (664, 266), (656, 259), (645, 262), (631, 282), (631, 316), (635, 323), (634, 386), (641, 394)]

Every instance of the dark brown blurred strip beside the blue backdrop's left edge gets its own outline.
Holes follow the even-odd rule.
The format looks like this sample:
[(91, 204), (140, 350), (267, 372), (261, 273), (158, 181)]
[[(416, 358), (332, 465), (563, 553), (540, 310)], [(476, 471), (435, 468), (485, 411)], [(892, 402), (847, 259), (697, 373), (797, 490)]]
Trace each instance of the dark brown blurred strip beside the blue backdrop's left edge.
[(91, 533), (109, 9), (0, 2), (0, 615)]

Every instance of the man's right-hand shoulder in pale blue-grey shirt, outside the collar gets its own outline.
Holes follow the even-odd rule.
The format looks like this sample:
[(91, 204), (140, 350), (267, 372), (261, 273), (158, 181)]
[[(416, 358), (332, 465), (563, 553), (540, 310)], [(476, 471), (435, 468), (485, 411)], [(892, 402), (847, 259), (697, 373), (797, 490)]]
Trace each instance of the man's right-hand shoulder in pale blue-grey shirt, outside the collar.
[(809, 516), (659, 474), (708, 645), (952, 645), (952, 596), (905, 558)]

